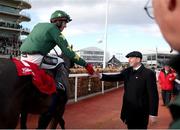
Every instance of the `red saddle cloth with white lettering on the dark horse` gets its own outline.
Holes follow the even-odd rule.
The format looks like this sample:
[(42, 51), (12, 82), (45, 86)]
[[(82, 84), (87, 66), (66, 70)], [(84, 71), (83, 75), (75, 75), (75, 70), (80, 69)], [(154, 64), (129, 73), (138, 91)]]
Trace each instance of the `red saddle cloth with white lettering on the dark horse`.
[(16, 58), (12, 58), (12, 61), (16, 65), (18, 76), (32, 75), (32, 82), (40, 92), (48, 95), (56, 92), (55, 80), (45, 70), (28, 61), (24, 61), (27, 65)]

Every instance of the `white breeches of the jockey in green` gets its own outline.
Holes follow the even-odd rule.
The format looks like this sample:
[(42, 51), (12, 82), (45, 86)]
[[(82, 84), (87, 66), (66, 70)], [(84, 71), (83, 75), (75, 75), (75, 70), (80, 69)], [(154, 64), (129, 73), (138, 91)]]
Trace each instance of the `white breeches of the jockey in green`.
[(52, 64), (47, 64), (47, 63), (42, 62), (44, 56), (41, 54), (21, 54), (21, 61), (24, 64), (25, 64), (24, 61), (35, 63), (43, 69), (54, 69), (58, 64), (64, 62), (64, 60), (60, 57), (57, 57), (54, 55), (47, 55), (47, 56), (51, 57), (52, 59), (55, 59), (57, 63), (55, 65), (54, 64), (52, 65)]

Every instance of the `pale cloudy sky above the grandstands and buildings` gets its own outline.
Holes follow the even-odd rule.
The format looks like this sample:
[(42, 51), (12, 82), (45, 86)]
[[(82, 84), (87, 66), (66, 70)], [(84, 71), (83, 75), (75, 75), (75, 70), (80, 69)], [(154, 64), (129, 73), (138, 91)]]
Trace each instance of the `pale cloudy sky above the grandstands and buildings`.
[[(169, 51), (159, 28), (144, 11), (147, 0), (109, 0), (107, 51), (122, 56), (133, 50), (141, 52)], [(30, 0), (32, 8), (26, 10), (31, 22), (23, 23), (32, 29), (38, 22), (49, 22), (55, 10), (67, 12), (72, 22), (63, 34), (74, 50), (86, 47), (104, 49), (106, 0)]]

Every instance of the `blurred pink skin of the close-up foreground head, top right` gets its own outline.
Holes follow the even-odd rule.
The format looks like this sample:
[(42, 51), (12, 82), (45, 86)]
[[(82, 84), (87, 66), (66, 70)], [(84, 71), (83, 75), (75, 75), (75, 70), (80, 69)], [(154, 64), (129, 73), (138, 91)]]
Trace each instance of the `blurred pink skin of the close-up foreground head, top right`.
[(169, 45), (180, 51), (180, 0), (152, 0), (154, 15)]

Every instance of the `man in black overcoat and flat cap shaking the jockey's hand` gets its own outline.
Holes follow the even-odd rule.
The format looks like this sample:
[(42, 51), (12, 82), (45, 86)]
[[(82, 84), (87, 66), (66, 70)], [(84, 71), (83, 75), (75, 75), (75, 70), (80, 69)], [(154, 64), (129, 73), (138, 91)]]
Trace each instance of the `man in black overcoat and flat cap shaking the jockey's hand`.
[(124, 81), (124, 96), (121, 119), (128, 129), (147, 129), (149, 118), (156, 121), (159, 96), (155, 73), (141, 63), (142, 54), (138, 51), (126, 55), (128, 68), (119, 74), (98, 74), (103, 81)]

